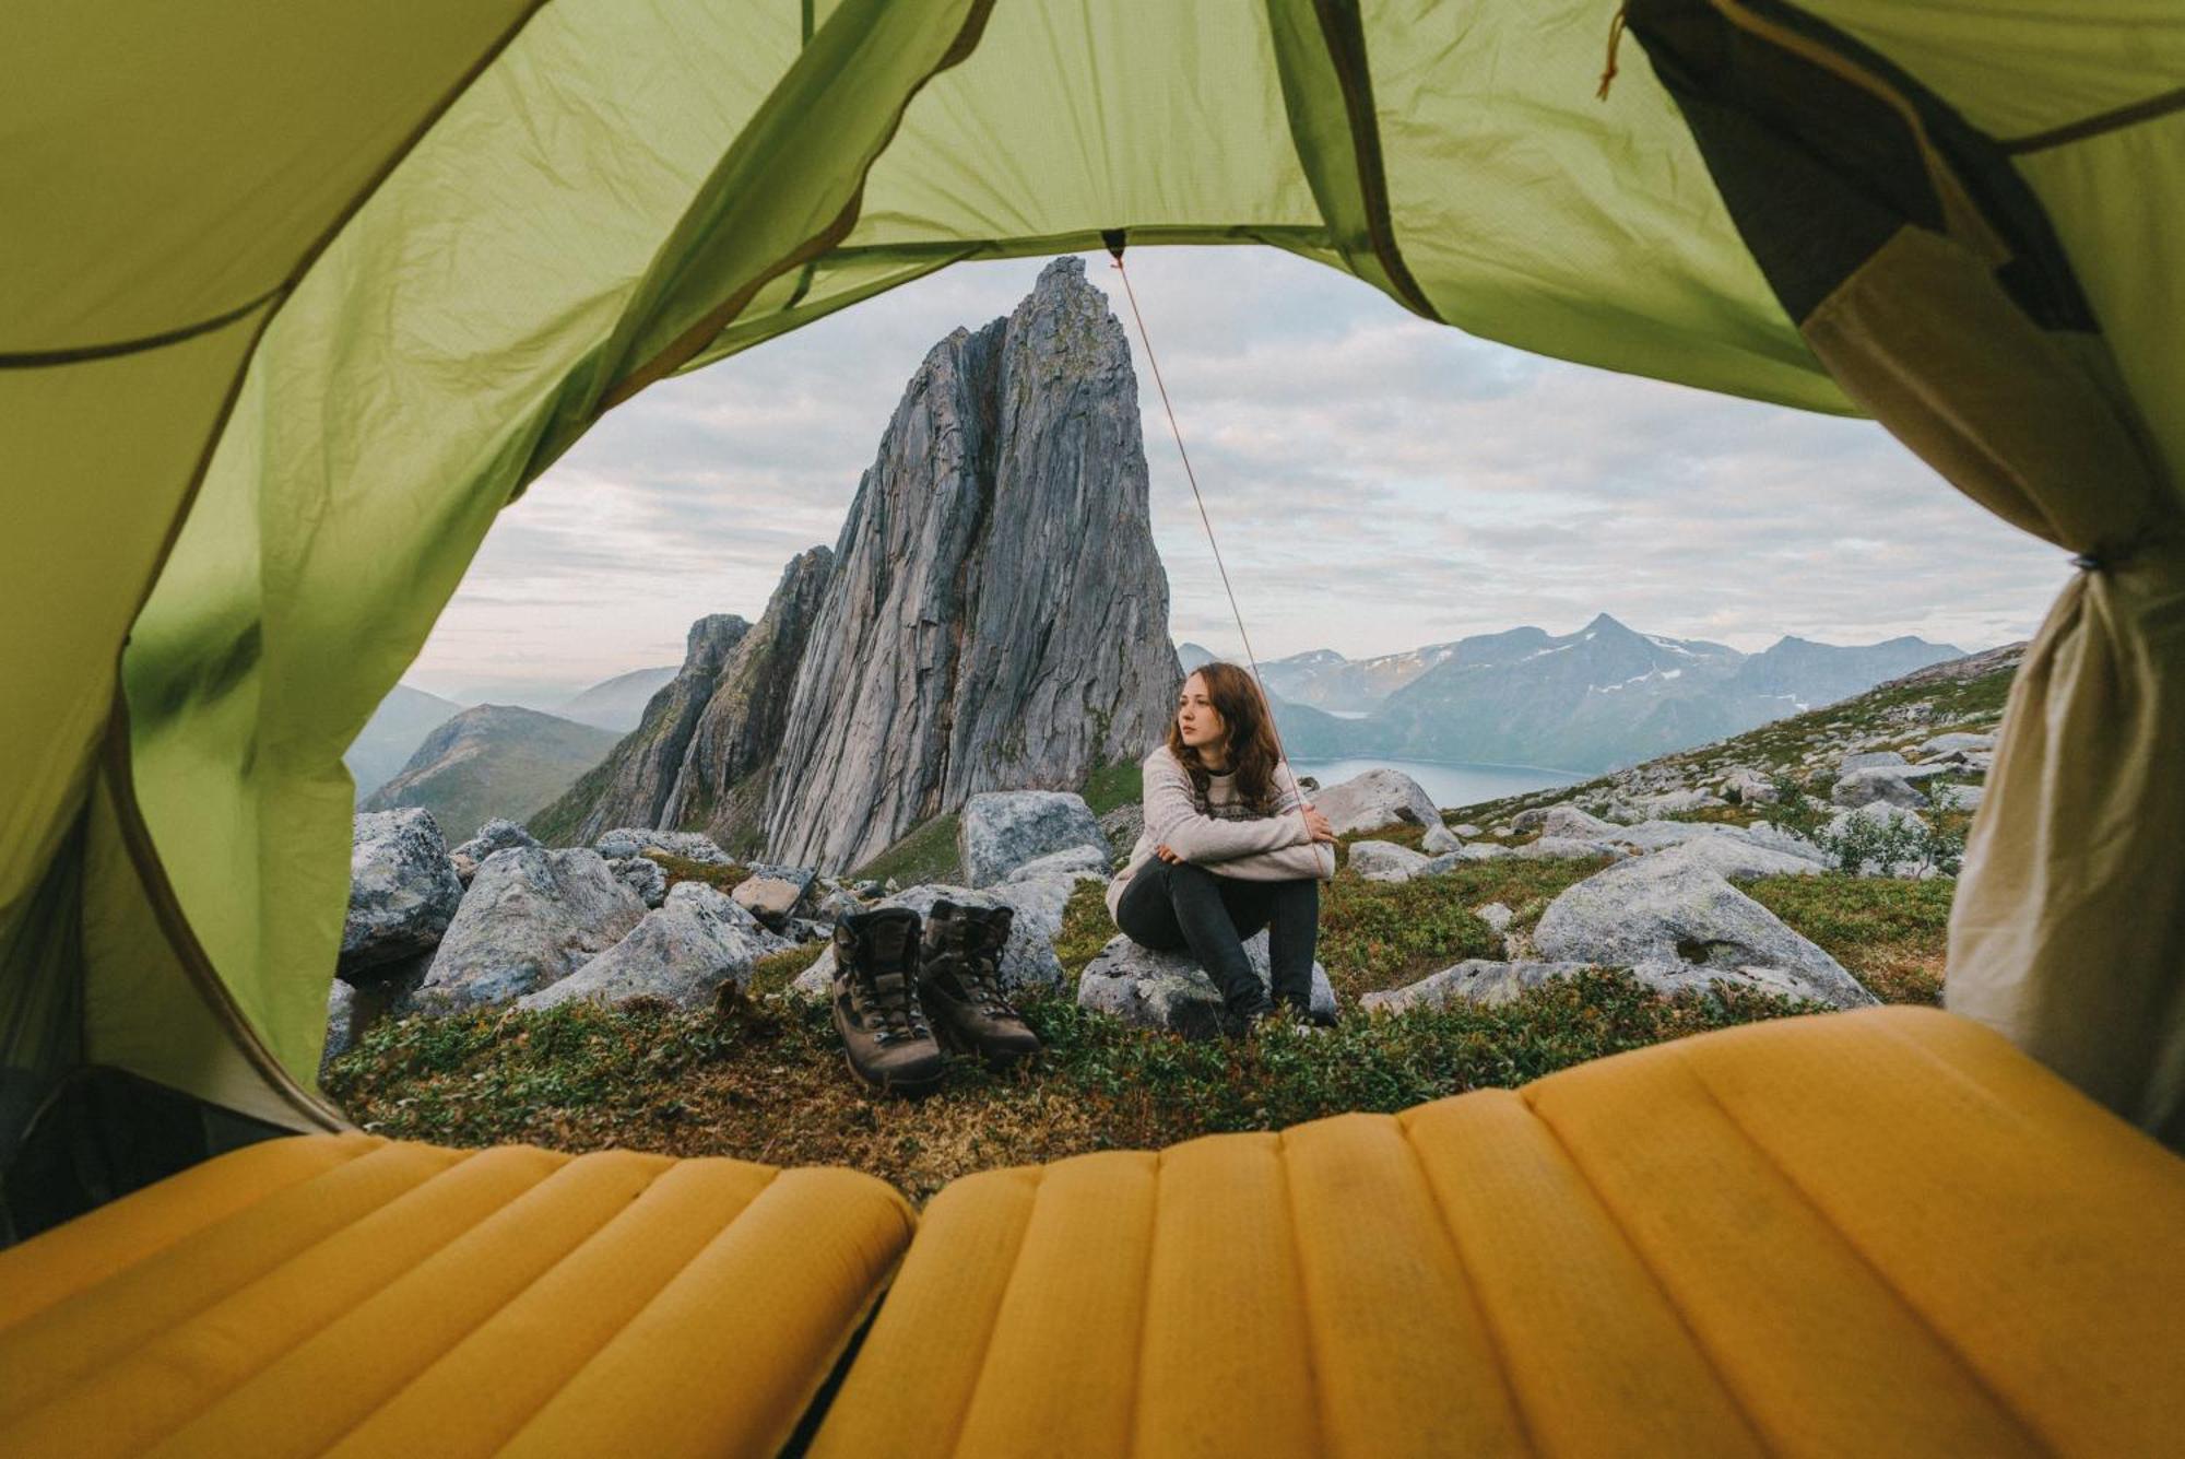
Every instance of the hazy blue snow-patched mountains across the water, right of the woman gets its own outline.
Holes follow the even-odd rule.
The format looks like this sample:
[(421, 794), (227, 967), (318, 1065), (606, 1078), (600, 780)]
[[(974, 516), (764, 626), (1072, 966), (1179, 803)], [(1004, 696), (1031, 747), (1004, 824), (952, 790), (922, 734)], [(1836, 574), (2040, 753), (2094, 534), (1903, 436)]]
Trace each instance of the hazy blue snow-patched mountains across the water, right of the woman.
[[(1741, 734), (1962, 653), (1923, 638), (1857, 647), (1783, 638), (1739, 653), (1599, 614), (1564, 636), (1523, 627), (1370, 660), (1318, 649), (1261, 664), (1261, 677), (1285, 745), (1302, 758), (1593, 773)], [(1180, 657), (1191, 666), (1213, 655), (1184, 644)]]

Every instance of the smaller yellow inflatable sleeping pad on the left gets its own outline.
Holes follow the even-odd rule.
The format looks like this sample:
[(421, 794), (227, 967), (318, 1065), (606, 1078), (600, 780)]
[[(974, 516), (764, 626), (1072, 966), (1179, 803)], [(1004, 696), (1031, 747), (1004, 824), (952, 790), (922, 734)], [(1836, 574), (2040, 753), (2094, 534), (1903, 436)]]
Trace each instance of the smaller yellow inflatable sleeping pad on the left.
[(911, 1238), (850, 1171), (256, 1144), (0, 1254), (0, 1455), (765, 1455)]

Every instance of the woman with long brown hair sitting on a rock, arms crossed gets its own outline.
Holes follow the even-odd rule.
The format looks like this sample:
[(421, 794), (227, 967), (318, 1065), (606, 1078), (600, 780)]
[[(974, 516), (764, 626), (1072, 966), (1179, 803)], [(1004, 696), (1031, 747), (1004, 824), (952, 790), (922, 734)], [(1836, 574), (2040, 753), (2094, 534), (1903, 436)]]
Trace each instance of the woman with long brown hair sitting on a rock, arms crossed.
[[(1276, 1009), (1309, 1020), (1320, 882), (1333, 876), (1335, 834), (1298, 795), (1259, 684), (1204, 664), (1145, 758), (1145, 834), (1108, 887), (1114, 924), (1145, 948), (1189, 948), (1237, 1024)], [(1272, 998), (1243, 952), (1261, 928)]]

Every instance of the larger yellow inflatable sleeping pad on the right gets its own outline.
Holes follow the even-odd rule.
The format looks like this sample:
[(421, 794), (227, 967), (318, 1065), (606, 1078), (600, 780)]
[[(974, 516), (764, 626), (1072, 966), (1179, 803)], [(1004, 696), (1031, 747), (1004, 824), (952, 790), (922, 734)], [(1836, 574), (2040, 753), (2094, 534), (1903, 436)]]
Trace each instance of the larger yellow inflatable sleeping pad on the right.
[(990, 1171), (815, 1452), (2185, 1452), (2185, 1162), (1875, 1009)]

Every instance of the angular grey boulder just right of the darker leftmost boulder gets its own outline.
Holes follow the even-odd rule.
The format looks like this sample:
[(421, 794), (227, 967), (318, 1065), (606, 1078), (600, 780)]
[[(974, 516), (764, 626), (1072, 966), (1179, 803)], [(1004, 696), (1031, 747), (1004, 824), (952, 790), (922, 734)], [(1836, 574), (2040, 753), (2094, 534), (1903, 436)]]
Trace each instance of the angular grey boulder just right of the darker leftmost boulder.
[(599, 852), (494, 852), (433, 954), (417, 1007), (452, 1013), (551, 987), (642, 917), (645, 902)]

